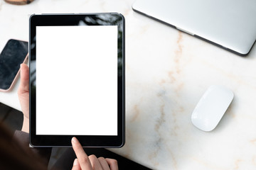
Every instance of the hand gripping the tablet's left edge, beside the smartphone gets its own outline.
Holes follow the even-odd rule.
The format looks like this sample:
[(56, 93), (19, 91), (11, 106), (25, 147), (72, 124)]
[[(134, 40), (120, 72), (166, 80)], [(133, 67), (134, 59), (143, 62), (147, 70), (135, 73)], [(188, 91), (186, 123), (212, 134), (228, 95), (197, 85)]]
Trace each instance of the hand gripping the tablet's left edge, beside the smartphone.
[(29, 132), (29, 68), (21, 64), (21, 84), (18, 87), (18, 99), (23, 112), (23, 132)]

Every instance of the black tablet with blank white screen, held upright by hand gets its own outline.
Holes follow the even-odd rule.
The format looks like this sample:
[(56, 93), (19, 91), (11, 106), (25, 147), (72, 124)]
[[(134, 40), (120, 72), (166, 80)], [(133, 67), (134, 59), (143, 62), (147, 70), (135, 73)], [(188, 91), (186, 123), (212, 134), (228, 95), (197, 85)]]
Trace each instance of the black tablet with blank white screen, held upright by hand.
[(124, 17), (119, 13), (30, 18), (30, 144), (124, 145)]

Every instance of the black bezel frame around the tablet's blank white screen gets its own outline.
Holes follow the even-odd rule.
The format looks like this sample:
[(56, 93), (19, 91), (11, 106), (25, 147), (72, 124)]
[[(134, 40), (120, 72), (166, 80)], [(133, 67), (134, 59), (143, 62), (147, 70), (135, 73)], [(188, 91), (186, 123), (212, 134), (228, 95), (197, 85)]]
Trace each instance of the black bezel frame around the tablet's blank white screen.
[[(107, 23), (102, 26), (117, 26), (119, 30), (117, 55), (117, 136), (100, 135), (36, 135), (36, 87), (32, 86), (36, 78), (31, 61), (36, 61), (36, 26), (78, 26), (78, 21), (85, 16), (113, 16), (121, 22)], [(88, 26), (96, 26), (95, 24)], [(83, 147), (122, 147), (125, 138), (125, 60), (124, 60), (124, 16), (120, 13), (79, 13), (79, 14), (41, 14), (32, 15), (29, 22), (29, 66), (30, 66), (30, 145), (31, 147), (71, 147), (71, 138), (77, 137)], [(120, 51), (121, 50), (121, 51)], [(33, 92), (32, 92), (33, 91)]]

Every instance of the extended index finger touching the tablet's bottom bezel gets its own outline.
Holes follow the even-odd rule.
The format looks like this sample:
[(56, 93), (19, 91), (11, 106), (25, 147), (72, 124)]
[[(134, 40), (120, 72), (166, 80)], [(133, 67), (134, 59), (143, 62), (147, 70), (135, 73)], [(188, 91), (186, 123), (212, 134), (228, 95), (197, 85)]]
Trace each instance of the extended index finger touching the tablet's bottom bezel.
[(90, 159), (85, 153), (84, 149), (82, 149), (82, 146), (80, 145), (78, 139), (76, 137), (73, 137), (71, 143), (81, 168), (85, 170), (92, 170), (92, 164), (90, 163)]

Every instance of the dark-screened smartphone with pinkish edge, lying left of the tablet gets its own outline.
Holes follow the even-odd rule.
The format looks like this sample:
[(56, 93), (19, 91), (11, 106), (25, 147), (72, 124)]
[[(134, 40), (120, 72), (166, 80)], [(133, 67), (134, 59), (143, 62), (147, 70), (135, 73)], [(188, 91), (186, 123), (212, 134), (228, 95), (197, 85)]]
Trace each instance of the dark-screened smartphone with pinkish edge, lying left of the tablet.
[(20, 64), (28, 57), (28, 42), (9, 40), (0, 54), (0, 91), (9, 91), (16, 82)]

